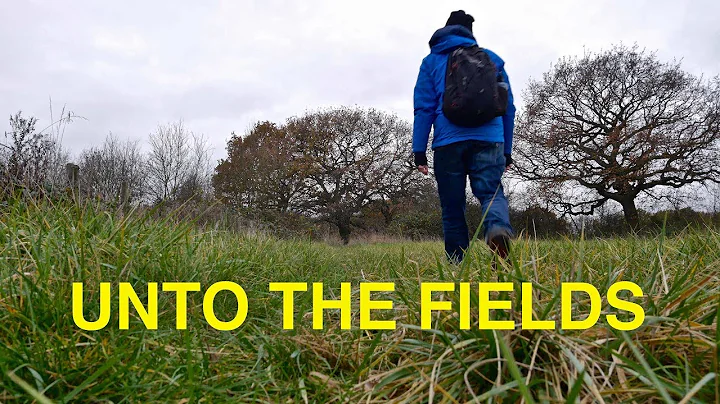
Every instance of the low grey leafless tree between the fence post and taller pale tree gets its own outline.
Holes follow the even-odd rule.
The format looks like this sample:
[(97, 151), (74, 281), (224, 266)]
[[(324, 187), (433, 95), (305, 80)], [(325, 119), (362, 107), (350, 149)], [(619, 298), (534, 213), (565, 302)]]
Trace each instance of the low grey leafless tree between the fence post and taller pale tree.
[(144, 162), (137, 142), (121, 142), (111, 133), (102, 147), (84, 150), (79, 163), (81, 188), (87, 194), (115, 200), (122, 184), (127, 183), (131, 201), (143, 198)]

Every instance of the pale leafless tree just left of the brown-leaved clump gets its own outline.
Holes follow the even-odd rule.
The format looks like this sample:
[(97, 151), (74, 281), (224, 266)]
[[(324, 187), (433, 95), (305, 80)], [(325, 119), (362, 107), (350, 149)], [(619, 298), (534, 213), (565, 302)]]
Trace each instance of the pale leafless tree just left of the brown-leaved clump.
[(150, 135), (146, 158), (147, 195), (153, 203), (177, 201), (207, 191), (210, 177), (207, 141), (182, 121), (158, 126)]

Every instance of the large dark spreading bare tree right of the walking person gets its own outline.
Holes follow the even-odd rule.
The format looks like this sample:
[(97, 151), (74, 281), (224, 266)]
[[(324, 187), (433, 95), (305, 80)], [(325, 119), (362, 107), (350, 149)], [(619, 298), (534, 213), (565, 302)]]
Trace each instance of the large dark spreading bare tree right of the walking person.
[(639, 195), (720, 181), (718, 78), (620, 45), (561, 59), (525, 100), (515, 171), (565, 213), (612, 200), (635, 227)]

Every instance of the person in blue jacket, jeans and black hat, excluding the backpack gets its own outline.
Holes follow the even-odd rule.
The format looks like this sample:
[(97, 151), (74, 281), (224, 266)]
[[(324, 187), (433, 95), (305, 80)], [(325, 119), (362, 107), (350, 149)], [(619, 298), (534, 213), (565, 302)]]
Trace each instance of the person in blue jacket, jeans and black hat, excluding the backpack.
[(476, 128), (451, 123), (442, 112), (445, 72), (448, 54), (458, 47), (476, 45), (472, 33), (474, 19), (464, 11), (450, 14), (445, 27), (430, 39), (430, 55), (423, 59), (415, 85), (415, 121), (413, 153), (417, 169), (427, 175), (427, 143), (434, 128), (435, 179), (442, 206), (445, 252), (450, 260), (462, 261), (469, 245), (465, 221), (465, 186), (480, 200), (483, 214), (483, 234), (490, 248), (506, 258), (510, 248), (512, 228), (508, 202), (500, 181), (505, 169), (512, 164), (511, 150), (515, 105), (505, 62), (495, 53), (484, 49), (495, 64), (502, 80), (508, 85), (508, 106), (505, 115)]

